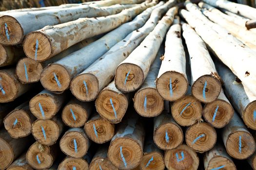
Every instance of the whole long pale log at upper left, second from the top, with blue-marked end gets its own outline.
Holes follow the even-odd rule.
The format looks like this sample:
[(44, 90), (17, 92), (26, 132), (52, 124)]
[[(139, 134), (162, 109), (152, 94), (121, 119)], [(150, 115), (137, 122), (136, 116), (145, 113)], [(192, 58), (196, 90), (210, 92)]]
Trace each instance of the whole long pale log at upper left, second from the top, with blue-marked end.
[[(100, 15), (93, 16), (95, 18), (80, 17), (67, 23), (46, 26), (26, 35), (23, 42), (24, 52), (31, 59), (37, 61), (47, 60), (86, 38), (117, 28), (155, 4), (156, 1), (142, 3), (133, 8), (123, 10), (119, 14), (108, 14), (107, 17), (100, 17)], [(38, 50), (36, 48), (37, 44)]]

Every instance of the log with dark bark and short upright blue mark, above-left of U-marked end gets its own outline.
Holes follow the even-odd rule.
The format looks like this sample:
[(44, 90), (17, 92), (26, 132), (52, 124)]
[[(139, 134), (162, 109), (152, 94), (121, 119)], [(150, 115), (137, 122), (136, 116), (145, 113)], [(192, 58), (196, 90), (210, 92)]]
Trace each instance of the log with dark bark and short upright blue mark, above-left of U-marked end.
[(182, 144), (183, 132), (170, 114), (154, 118), (154, 142), (161, 150), (171, 150)]

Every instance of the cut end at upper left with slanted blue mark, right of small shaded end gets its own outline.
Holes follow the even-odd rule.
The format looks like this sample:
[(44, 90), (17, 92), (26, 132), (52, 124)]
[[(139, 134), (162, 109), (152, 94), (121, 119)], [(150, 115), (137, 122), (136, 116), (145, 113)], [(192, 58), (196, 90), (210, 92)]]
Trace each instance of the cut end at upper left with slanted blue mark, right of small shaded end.
[(52, 92), (62, 93), (68, 89), (71, 77), (66, 68), (53, 64), (43, 70), (40, 77), (42, 86)]

